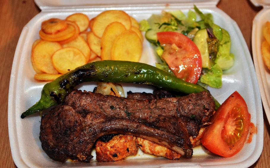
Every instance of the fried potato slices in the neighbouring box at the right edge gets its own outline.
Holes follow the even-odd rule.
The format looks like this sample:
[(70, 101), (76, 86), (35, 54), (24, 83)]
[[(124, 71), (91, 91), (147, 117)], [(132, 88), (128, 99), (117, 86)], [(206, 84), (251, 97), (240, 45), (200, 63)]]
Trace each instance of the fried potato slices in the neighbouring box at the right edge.
[(270, 70), (270, 22), (268, 21), (263, 25), (263, 36), (265, 38), (261, 46), (263, 62)]

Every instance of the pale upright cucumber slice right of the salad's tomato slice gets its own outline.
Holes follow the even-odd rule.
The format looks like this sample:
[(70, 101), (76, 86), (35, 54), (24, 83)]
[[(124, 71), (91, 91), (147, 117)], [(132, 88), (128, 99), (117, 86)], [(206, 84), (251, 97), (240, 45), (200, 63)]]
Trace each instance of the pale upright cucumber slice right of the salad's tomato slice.
[(208, 33), (206, 29), (198, 30), (193, 38), (193, 42), (196, 44), (201, 53), (201, 62), (203, 68), (211, 68), (208, 43), (207, 43)]

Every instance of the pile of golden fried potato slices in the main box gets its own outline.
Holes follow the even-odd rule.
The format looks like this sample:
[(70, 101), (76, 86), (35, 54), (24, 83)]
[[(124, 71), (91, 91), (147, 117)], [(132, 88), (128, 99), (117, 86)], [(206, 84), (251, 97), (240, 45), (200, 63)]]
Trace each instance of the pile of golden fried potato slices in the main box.
[(120, 10), (104, 11), (91, 20), (82, 13), (51, 18), (42, 22), (39, 36), (31, 52), (36, 80), (54, 80), (96, 60), (138, 62), (142, 55), (139, 23)]

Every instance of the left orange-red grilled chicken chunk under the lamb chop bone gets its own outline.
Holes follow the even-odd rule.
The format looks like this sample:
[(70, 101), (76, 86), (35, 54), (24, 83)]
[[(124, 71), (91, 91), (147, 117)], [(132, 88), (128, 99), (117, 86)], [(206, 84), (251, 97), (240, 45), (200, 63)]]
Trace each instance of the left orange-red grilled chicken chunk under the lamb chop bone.
[(96, 143), (97, 161), (118, 161), (127, 156), (136, 155), (138, 146), (132, 135), (116, 135), (108, 142), (98, 140)]

